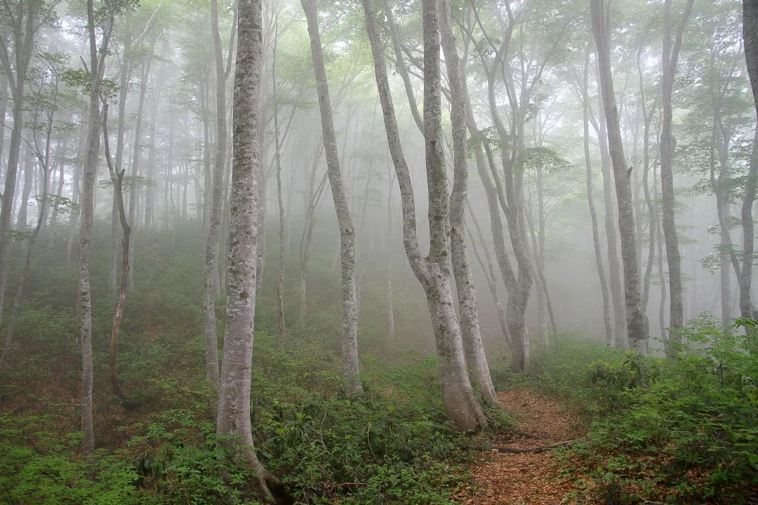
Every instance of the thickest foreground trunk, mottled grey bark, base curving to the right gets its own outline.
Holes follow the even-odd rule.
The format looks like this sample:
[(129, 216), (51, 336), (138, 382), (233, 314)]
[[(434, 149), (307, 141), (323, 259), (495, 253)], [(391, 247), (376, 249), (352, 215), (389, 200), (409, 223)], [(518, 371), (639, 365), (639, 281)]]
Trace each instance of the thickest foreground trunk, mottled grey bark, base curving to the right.
[(249, 468), (250, 484), (266, 503), (280, 482), (258, 461), (250, 423), (250, 381), (258, 254), (258, 89), (261, 79), (260, 0), (239, 0), (233, 99), (233, 162), (229, 220), (227, 325), (219, 382), (216, 432)]

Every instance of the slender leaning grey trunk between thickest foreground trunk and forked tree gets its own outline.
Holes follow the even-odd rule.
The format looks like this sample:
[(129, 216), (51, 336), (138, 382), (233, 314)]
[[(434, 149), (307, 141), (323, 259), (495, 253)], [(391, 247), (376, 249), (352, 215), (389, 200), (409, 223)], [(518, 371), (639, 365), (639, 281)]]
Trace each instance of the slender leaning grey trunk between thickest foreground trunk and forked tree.
[(346, 379), (347, 394), (361, 394), (363, 388), (358, 366), (358, 297), (356, 293), (356, 232), (347, 205), (347, 195), (337, 153), (337, 135), (334, 132), (324, 52), (321, 49), (321, 34), (318, 31), (318, 12), (315, 0), (300, 0), (308, 31), (311, 36), (311, 55), (318, 91), (318, 108), (321, 113), (321, 133), (327, 156), (327, 174), (340, 226), (340, 261), (342, 263), (342, 367)]

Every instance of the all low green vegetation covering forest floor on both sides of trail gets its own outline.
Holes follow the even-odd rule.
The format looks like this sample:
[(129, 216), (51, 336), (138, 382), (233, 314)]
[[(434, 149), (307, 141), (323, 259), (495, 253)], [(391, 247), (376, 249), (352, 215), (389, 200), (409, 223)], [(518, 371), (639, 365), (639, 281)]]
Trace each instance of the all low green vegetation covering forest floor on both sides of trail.
[[(49, 248), (49, 257), (36, 263), (44, 267), (30, 277), (0, 370), (0, 503), (255, 503), (240, 491), (249, 475), (233, 464), (212, 422), (199, 330), (202, 282), (193, 275), (202, 270), (200, 243), (190, 233), (138, 242), (118, 362), (133, 410), (108, 388), (111, 298), (104, 283), (96, 286), (99, 450), (92, 459), (78, 452), (80, 359), (72, 338), (75, 311), (67, 303), (74, 294), (55, 295), (71, 290), (76, 271), (63, 247)], [(99, 246), (102, 267), (107, 253)], [(97, 279), (106, 278), (101, 273)], [(317, 269), (314, 276), (321, 274)], [(273, 273), (264, 281), (273, 282)], [(374, 293), (371, 285), (365, 283), (362, 296), (383, 296), (383, 286)], [(252, 395), (259, 456), (296, 503), (453, 503), (456, 489), (472, 485), (475, 455), (502, 439), (512, 420), (491, 409), (492, 431), (454, 432), (426, 343), (414, 349), (402, 336), (410, 333), (401, 332), (396, 341), (383, 340), (378, 318), (384, 313), (370, 304), (362, 320), (365, 394), (345, 397), (340, 318), (326, 304), (338, 299), (340, 287), (320, 289), (330, 288), (334, 296), (326, 293), (309, 308), (313, 324), (283, 342), (272, 335), (276, 323), (266, 308), (265, 293), (274, 289), (262, 290)], [(290, 286), (290, 300), (296, 290)], [(413, 335), (424, 325), (414, 319), (416, 309), (415, 301), (396, 308)], [(500, 389), (532, 388), (559, 398), (585, 419), (586, 438), (553, 450), (562, 478), (580, 490), (567, 500), (747, 503), (758, 496), (758, 342), (744, 335), (752, 325), (739, 320), (725, 332), (702, 316), (683, 330), (674, 360), (562, 335), (534, 350), (528, 374), (509, 372), (508, 356), (493, 357), (493, 379)]]

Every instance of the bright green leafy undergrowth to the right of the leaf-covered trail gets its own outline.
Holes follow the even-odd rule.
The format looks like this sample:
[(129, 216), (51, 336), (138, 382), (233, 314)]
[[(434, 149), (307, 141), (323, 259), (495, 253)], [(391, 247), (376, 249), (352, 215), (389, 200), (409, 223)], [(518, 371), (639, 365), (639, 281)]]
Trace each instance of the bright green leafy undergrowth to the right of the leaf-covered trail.
[(681, 335), (672, 360), (565, 339), (537, 354), (531, 377), (501, 377), (594, 419), (587, 441), (557, 451), (576, 503), (758, 500), (756, 341), (708, 316)]

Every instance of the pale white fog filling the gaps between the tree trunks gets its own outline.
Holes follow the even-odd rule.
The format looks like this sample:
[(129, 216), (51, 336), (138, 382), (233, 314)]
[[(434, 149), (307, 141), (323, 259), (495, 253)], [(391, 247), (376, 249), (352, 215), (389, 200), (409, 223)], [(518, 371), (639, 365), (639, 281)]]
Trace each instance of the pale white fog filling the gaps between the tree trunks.
[[(25, 2), (15, 3), (26, 5)], [(84, 69), (83, 62), (88, 61), (89, 49), (83, 12), (78, 4), (42, 3), (45, 8), (52, 8), (52, 14), (47, 17), (32, 14), (38, 16), (39, 27), (28, 34), (33, 40), (30, 54), (23, 52), (23, 47), (18, 45), (23, 41), (14, 38), (11, 31), (4, 30), (2, 36), (5, 67), (0, 73), (0, 117), (3, 120), (0, 169), (6, 189), (3, 209), (5, 214), (11, 213), (5, 233), (17, 232), (15, 240), (23, 242), (23, 232), (35, 226), (41, 201), (35, 195), (42, 194), (42, 165), (49, 164), (49, 208), (41, 229), (41, 236), (45, 239), (40, 240), (36, 248), (65, 248), (67, 260), (76, 261), (80, 226), (77, 207), (81, 201), (81, 171), (86, 151), (87, 106), (86, 90), (77, 85), (74, 71)], [(684, 2), (674, 4), (676, 29)], [(683, 42), (673, 86), (675, 148), (672, 166), (685, 321), (703, 311), (716, 314), (725, 321), (740, 313), (738, 277), (728, 261), (725, 266), (722, 264), (723, 275), (719, 277), (718, 254), (719, 250), (726, 248), (735, 251), (744, 248), (739, 217), (755, 126), (752, 108), (747, 106), (750, 86), (742, 55), (740, 7), (740, 2), (694, 2), (692, 14), (683, 25)], [(319, 8), (337, 151), (356, 229), (360, 313), (368, 312), (364, 301), (366, 293), (371, 293), (366, 295), (370, 300), (368, 303), (387, 304), (387, 297), (376, 293), (384, 289), (378, 286), (389, 280), (388, 272), (391, 272), (388, 289), (393, 304), (402, 306), (413, 300), (412, 304), (419, 307), (418, 320), (428, 324), (424, 292), (414, 279), (403, 252), (400, 194), (387, 147), (362, 9), (352, 2), (327, 2)], [(222, 2), (219, 9), (221, 60), (227, 65), (228, 72), (225, 114), (227, 125), (231, 125), (231, 76), (236, 51), (231, 30), (233, 24), (236, 25), (236, 14), (229, 3)], [(427, 254), (429, 226), (424, 136), (412, 116), (412, 108), (423, 112), (420, 8), (415, 2), (401, 2), (393, 7), (394, 41), (390, 34), (393, 30), (384, 16), (384, 6), (379, 9), (381, 37), (387, 53), (402, 148), (415, 192), (418, 242), (422, 253)], [(662, 127), (664, 36), (659, 11), (659, 5), (650, 2), (621, 2), (612, 11), (610, 32), (615, 96), (631, 181), (637, 259), (642, 282), (647, 285), (644, 289), (647, 296), (645, 314), (649, 320), (648, 334), (652, 338), (665, 338), (665, 329), (669, 326), (669, 267), (660, 252), (665, 252), (666, 248), (658, 247), (662, 241), (658, 141)], [(24, 13), (29, 15), (27, 11)], [(262, 271), (266, 276), (273, 276), (278, 263), (278, 143), (287, 260), (285, 282), (289, 286), (285, 300), (286, 319), (287, 326), (294, 329), (302, 328), (302, 321), (299, 321), (302, 316), (298, 315), (302, 312), (302, 304), (319, 296), (318, 282), (321, 282), (319, 279), (324, 271), (334, 275), (334, 282), (339, 282), (340, 241), (326, 176), (318, 98), (302, 9), (296, 2), (265, 2), (263, 15), (265, 59), (259, 120), (263, 181), (260, 212), (265, 220), (265, 233), (261, 234), (262, 240), (265, 238)], [(3, 26), (10, 30), (15, 18), (3, 16)], [(471, 117), (487, 139), (484, 144), (491, 151), (490, 156), (496, 159), (503, 149), (518, 153), (516, 170), (522, 174), (524, 195), (522, 226), (525, 227), (526, 248), (531, 254), (535, 279), (528, 300), (528, 332), (532, 342), (553, 338), (550, 316), (545, 307), (546, 292), (559, 332), (602, 340), (605, 332), (603, 297), (587, 202), (587, 163), (594, 177), (598, 247), (605, 265), (604, 275), (606, 279), (616, 276), (620, 286), (623, 286), (624, 279), (619, 267), (609, 269), (609, 234), (615, 235), (615, 242), (619, 243), (622, 236), (618, 226), (609, 229), (604, 224), (606, 212), (612, 212), (614, 217), (610, 223), (615, 224), (619, 211), (615, 193), (603, 191), (604, 178), (608, 188), (612, 186), (609, 179), (612, 172), (609, 157), (601, 152), (605, 142), (599, 142), (605, 135), (605, 118), (601, 112), (597, 57), (587, 5), (582, 2), (510, 2), (507, 12), (503, 5), (460, 5), (453, 10), (453, 21), (459, 51), (466, 58), (465, 79), (471, 100)], [(208, 230), (211, 174), (215, 170), (218, 138), (215, 105), (218, 85), (210, 23), (208, 4), (190, 1), (141, 2), (114, 17), (105, 58), (105, 83), (110, 88), (103, 99), (110, 104), (108, 133), (111, 151), (118, 170), (123, 168), (126, 171), (125, 207), (133, 229), (132, 246), (137, 250), (161, 237), (180, 233), (188, 226)], [(102, 41), (104, 31), (100, 25), (96, 36)], [(503, 45), (503, 40), (508, 37), (510, 45)], [(393, 44), (397, 45), (399, 52), (393, 51)], [(493, 54), (499, 56), (493, 57)], [(24, 55), (30, 58), (30, 63), (22, 86), (25, 95), (21, 111), (23, 118), (14, 122), (13, 89), (18, 82), (18, 61)], [(403, 60), (396, 61), (397, 55), (402, 55)], [(496, 58), (500, 58), (500, 67), (493, 64)], [(588, 75), (586, 111), (582, 103), (585, 67)], [(497, 74), (491, 88), (487, 86), (488, 72)], [(450, 91), (444, 76), (442, 87), (444, 151), (448, 181), (452, 184), (453, 139), (450, 136), (449, 101), (445, 99), (449, 98)], [(488, 101), (490, 92), (493, 104)], [(413, 103), (409, 101), (409, 93)], [(490, 105), (500, 115), (509, 139), (516, 145), (509, 145), (508, 139), (497, 137)], [(274, 134), (275, 110), (278, 139)], [(585, 160), (582, 148), (584, 114), (590, 124), (588, 160)], [(45, 118), (52, 118), (49, 129), (45, 128)], [(11, 132), (16, 127), (14, 125), (19, 124), (22, 125), (21, 139), (14, 147)], [(48, 148), (44, 147), (46, 138), (49, 139)], [(223, 150), (223, 198), (218, 241), (221, 282), (226, 282), (227, 275), (231, 142), (230, 134)], [(508, 290), (495, 264), (490, 208), (475, 162), (476, 142), (470, 135), (466, 246), (475, 276), (482, 336), (487, 348), (504, 352), (507, 346), (487, 277), (491, 277), (503, 304)], [(116, 152), (117, 145), (120, 152)], [(20, 153), (17, 182), (9, 184), (8, 170), (9, 164), (15, 163), (11, 156), (14, 149)], [(111, 259), (108, 265), (99, 267), (99, 272), (108, 272), (109, 289), (115, 292), (121, 231), (117, 227), (117, 213), (114, 214), (113, 184), (105, 158), (102, 155), (100, 158), (94, 200), (96, 241), (101, 245), (106, 241), (110, 243)], [(497, 163), (493, 167), (492, 170), (502, 170)], [(643, 187), (646, 178), (650, 193), (647, 198)], [(734, 244), (721, 245), (720, 249), (716, 186), (725, 194), (722, 217), (728, 221), (726, 229), (731, 231)], [(11, 198), (12, 204), (7, 206), (5, 202)], [(478, 223), (478, 229), (474, 221)], [(114, 223), (112, 227), (111, 222)], [(651, 226), (657, 230), (653, 243), (650, 242)], [(310, 227), (312, 231), (309, 231)], [(109, 228), (110, 236), (104, 236)], [(507, 230), (505, 245), (506, 255), (515, 263)], [(16, 261), (21, 251), (17, 245), (7, 248), (10, 259), (6, 254), (2, 258), (5, 278), (8, 277), (8, 261)], [(197, 254), (202, 255), (200, 243), (197, 244)], [(613, 254), (619, 257), (618, 252)], [(98, 261), (102, 262), (104, 257), (99, 257)], [(615, 261), (619, 263), (618, 259)], [(133, 278), (146, 275), (150, 267), (144, 253), (133, 258), (131, 268)], [(313, 269), (318, 270), (317, 276), (312, 275)], [(305, 272), (302, 277), (305, 279), (305, 298), (300, 293), (300, 271)], [(2, 288), (7, 290), (8, 286), (16, 285), (16, 279), (5, 278)], [(134, 280), (130, 282), (133, 285)], [(754, 283), (752, 290), (755, 299)], [(219, 292), (218, 287), (216, 291)], [(223, 292), (223, 288), (220, 291)], [(330, 301), (329, 310), (337, 314), (339, 295), (337, 291), (330, 295), (334, 295), (334, 300)], [(722, 299), (727, 296), (730, 301), (724, 309)], [(6, 305), (10, 303), (9, 298), (10, 295), (5, 298)], [(373, 309), (379, 310), (378, 307)], [(613, 312), (614, 307), (611, 306), (610, 310)], [(309, 310), (304, 313), (307, 323), (311, 315)], [(621, 320), (624, 319), (622, 314)], [(402, 325), (396, 324), (395, 332), (403, 344), (415, 345), (413, 342), (418, 340), (416, 344), (421, 348), (434, 349), (431, 329), (421, 334), (409, 333)], [(661, 347), (660, 344), (651, 345)]]

